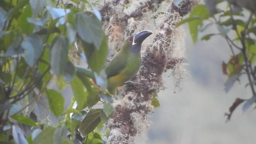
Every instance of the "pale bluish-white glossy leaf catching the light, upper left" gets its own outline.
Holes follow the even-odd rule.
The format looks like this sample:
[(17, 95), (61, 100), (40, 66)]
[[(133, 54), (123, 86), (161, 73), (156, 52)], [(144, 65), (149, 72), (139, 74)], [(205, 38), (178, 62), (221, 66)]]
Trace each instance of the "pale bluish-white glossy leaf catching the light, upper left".
[(64, 16), (71, 12), (70, 9), (51, 8), (48, 6), (46, 6), (46, 8), (50, 12), (53, 20), (60, 18), (60, 20), (58, 21), (59, 24), (65, 24), (66, 20), (64, 19)]

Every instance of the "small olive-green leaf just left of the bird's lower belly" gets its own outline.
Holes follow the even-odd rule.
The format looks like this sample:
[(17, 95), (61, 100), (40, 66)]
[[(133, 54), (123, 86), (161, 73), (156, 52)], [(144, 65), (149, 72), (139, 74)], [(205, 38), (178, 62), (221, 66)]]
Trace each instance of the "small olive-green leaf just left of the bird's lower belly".
[[(88, 91), (87, 91), (88, 92)], [(88, 108), (91, 108), (95, 104), (97, 104), (100, 100), (100, 96), (98, 95), (100, 90), (98, 88), (92, 88), (92, 92), (88, 92), (87, 96), (87, 105)]]

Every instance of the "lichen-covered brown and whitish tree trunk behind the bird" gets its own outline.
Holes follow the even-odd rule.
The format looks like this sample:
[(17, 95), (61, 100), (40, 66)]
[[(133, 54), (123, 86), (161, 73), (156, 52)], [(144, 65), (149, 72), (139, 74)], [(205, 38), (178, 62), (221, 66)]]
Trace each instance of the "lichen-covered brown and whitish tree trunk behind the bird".
[[(150, 29), (148, 23), (156, 21), (154, 38), (146, 43), (142, 52), (142, 66), (132, 83), (119, 92), (120, 99), (113, 103), (115, 112), (108, 121), (110, 133), (108, 144), (143, 143), (150, 125), (147, 114), (153, 112), (153, 95), (163, 89), (162, 76), (173, 70), (176, 84), (182, 79), (184, 30), (175, 25), (198, 4), (198, 0), (185, 0), (178, 6), (168, 3), (162, 13), (164, 0), (105, 0), (100, 10), (109, 46), (115, 52), (122, 41), (132, 34)], [(127, 7), (128, 6), (128, 7)], [(159, 15), (158, 15), (159, 14)], [(152, 26), (151, 26), (152, 27)], [(151, 29), (150, 29), (151, 30)]]

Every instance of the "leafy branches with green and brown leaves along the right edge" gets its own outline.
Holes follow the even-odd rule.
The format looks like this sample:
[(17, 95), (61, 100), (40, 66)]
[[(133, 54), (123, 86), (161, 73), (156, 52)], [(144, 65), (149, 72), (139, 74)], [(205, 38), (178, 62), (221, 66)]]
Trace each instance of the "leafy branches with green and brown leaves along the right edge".
[[(223, 5), (226, 5), (223, 6)], [(232, 52), (228, 62), (222, 63), (223, 74), (228, 77), (225, 91), (228, 92), (240, 76), (246, 75), (252, 97), (249, 99), (237, 98), (230, 107), (230, 114), (242, 102), (243, 111), (246, 111), (256, 102), (256, 1), (255, 0), (205, 0), (205, 4), (199, 4), (191, 11), (190, 16), (182, 20), (177, 26), (188, 23), (193, 42), (198, 39), (210, 40), (214, 35), (225, 38)], [(202, 32), (215, 25), (218, 33), (210, 33), (202, 36)], [(201, 37), (200, 37), (201, 35)]]

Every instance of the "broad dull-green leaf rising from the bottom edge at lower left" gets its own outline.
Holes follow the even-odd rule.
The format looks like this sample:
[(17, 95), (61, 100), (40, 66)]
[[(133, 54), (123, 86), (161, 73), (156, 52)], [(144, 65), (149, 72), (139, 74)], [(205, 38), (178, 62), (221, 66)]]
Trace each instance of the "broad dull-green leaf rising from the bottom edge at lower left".
[(54, 144), (54, 131), (55, 128), (51, 126), (44, 128), (44, 130), (40, 132), (33, 140), (33, 144)]

